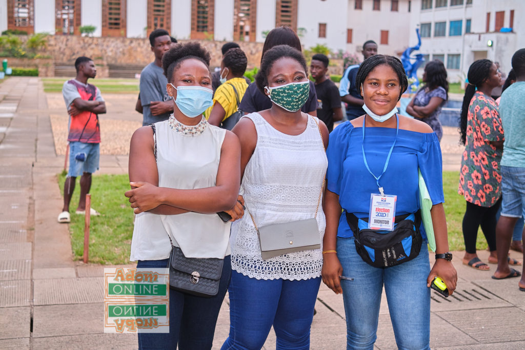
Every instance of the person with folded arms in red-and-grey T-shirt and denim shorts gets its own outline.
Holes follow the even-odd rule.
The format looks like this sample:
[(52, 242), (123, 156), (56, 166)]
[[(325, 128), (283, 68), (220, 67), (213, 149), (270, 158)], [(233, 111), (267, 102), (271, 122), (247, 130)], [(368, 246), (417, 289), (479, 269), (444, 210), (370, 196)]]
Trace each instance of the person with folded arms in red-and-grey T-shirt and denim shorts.
[[(69, 114), (69, 172), (64, 184), (64, 207), (58, 222), (70, 222), (69, 203), (75, 190), (77, 176), (80, 177), (80, 200), (77, 214), (86, 212), (86, 194), (91, 188), (91, 174), (99, 167), (100, 124), (98, 114), (106, 113), (106, 102), (100, 90), (88, 84), (95, 78), (97, 68), (91, 58), (81, 56), (75, 61), (77, 77), (68, 80), (62, 87), (62, 95)], [(92, 209), (91, 215), (99, 215)]]

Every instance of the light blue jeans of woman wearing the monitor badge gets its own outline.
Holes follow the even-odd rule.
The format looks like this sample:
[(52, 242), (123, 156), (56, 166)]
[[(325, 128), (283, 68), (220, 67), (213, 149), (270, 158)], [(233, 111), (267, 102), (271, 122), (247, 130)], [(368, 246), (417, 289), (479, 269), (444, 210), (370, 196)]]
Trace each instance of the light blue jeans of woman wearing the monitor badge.
[(337, 256), (343, 275), (341, 280), (346, 314), (346, 349), (373, 349), (383, 284), (390, 319), (400, 349), (429, 349), (430, 273), (428, 249), (423, 241), (421, 252), (411, 261), (390, 268), (375, 268), (355, 251), (354, 238), (337, 239)]

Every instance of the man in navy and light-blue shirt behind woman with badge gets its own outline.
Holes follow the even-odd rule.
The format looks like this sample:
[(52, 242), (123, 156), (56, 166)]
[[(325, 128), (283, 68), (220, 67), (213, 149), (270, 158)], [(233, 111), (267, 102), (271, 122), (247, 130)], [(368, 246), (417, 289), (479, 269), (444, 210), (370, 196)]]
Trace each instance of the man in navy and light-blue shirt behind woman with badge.
[[(374, 55), (377, 55), (377, 44), (373, 40), (368, 40), (363, 44), (364, 59)], [(359, 87), (355, 86), (355, 76), (358, 74), (359, 66), (360, 65), (353, 65), (346, 68), (339, 83), (341, 100), (348, 105), (346, 107), (346, 117), (348, 120), (358, 118), (358, 116), (365, 114), (361, 91)]]

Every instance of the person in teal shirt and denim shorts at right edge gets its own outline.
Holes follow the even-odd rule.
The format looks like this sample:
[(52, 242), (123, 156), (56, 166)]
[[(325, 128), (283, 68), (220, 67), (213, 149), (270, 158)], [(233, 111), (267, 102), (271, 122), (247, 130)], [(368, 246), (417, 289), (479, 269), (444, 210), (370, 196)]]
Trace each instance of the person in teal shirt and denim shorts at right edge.
[[(493, 279), (519, 277), (520, 273), (509, 267), (508, 251), (512, 229), (516, 221), (525, 215), (525, 49), (512, 56), (512, 69), (516, 82), (501, 95), (499, 113), (505, 132), (503, 156), (501, 158), (501, 187), (503, 201), (501, 216), (496, 226), (496, 249), (498, 268)], [(522, 239), (525, 239), (525, 231)], [(525, 255), (524, 255), (525, 258)], [(525, 292), (525, 268), (518, 283)]]

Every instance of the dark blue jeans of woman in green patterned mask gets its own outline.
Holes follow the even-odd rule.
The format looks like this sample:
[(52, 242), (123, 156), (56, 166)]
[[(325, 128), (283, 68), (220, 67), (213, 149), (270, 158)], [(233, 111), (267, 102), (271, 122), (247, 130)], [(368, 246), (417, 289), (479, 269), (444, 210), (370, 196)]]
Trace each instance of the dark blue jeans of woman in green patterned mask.
[(313, 306), (321, 278), (257, 280), (232, 271), (230, 332), (222, 350), (256, 350), (273, 325), (279, 349), (309, 349)]

